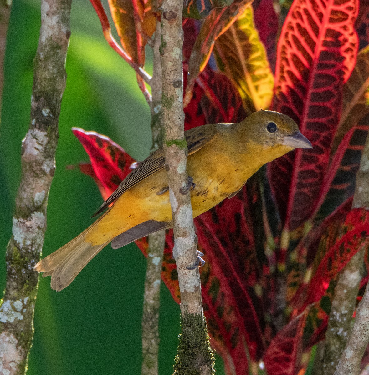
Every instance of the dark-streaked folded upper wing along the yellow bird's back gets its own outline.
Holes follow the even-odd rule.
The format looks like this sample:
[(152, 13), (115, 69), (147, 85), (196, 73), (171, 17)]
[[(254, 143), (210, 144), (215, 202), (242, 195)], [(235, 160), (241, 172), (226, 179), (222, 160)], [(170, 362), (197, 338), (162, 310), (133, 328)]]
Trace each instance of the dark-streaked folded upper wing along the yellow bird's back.
[[(194, 152), (200, 150), (207, 143), (212, 141), (215, 135), (218, 133), (217, 127), (214, 124), (207, 124), (193, 129), (187, 130), (184, 135), (187, 141), (188, 154), (191, 155)], [(92, 215), (92, 217), (98, 215), (104, 211), (115, 199), (121, 196), (126, 190), (135, 186), (145, 178), (152, 174), (160, 171), (164, 168), (165, 155), (162, 147), (159, 150), (153, 152), (144, 161), (138, 164), (137, 168), (133, 169), (129, 175), (120, 183), (118, 188), (106, 199), (106, 201), (100, 206), (100, 208)]]

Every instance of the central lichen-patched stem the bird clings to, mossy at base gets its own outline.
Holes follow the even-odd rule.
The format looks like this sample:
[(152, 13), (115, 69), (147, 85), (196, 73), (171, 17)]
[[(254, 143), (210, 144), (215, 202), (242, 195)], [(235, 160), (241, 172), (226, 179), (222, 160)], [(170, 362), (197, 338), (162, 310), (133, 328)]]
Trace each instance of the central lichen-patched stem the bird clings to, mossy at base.
[(160, 55), (163, 74), (162, 115), (164, 121), (165, 169), (172, 208), (174, 248), (181, 292), (182, 332), (178, 345), (175, 374), (214, 374), (201, 302), (197, 261), (197, 236), (192, 220), (189, 180), (186, 170), (187, 143), (184, 138), (182, 70), (183, 0), (163, 0)]

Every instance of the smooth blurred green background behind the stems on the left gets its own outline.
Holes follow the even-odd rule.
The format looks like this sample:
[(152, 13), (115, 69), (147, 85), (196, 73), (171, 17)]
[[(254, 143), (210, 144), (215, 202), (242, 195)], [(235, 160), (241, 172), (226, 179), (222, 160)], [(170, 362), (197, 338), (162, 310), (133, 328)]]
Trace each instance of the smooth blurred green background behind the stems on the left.
[[(19, 186), (21, 140), (29, 123), (39, 27), (39, 3), (15, 1), (0, 127), (0, 290), (5, 287), (5, 248)], [(104, 40), (88, 0), (73, 0), (71, 30), (43, 255), (91, 224), (89, 217), (102, 202), (90, 177), (77, 168), (66, 168), (88, 160), (71, 127), (108, 135), (137, 160), (148, 155), (151, 145), (150, 111), (135, 74)], [(27, 374), (140, 374), (145, 269), (145, 258), (136, 245), (124, 250), (107, 246), (60, 293), (50, 289), (50, 278), (41, 278)], [(166, 287), (161, 293), (159, 373), (171, 374), (180, 333), (179, 306)], [(218, 374), (223, 374), (219, 358), (216, 364)]]

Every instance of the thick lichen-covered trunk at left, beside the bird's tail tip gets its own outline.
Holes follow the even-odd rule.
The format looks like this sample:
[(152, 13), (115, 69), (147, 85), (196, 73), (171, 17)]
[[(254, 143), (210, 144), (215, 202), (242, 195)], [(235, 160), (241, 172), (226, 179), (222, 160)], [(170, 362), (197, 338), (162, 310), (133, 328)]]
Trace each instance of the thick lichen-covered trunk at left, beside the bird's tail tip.
[(6, 249), (6, 289), (0, 307), (0, 369), (24, 374), (33, 338), (39, 261), (46, 229), (46, 207), (55, 172), (60, 103), (65, 89), (65, 58), (70, 37), (71, 0), (41, 0), (41, 30), (33, 62), (29, 130), (22, 142), (21, 183)]

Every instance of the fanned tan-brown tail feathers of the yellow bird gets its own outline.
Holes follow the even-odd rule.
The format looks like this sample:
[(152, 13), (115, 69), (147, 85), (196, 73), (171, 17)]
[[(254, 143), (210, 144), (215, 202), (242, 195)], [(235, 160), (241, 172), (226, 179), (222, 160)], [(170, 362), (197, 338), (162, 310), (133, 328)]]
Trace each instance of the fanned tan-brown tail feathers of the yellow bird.
[(51, 275), (51, 288), (54, 290), (60, 291), (68, 287), (83, 267), (110, 242), (109, 240), (102, 245), (91, 245), (86, 241), (86, 236), (94, 229), (94, 224), (36, 264), (34, 270), (43, 272), (43, 277)]

